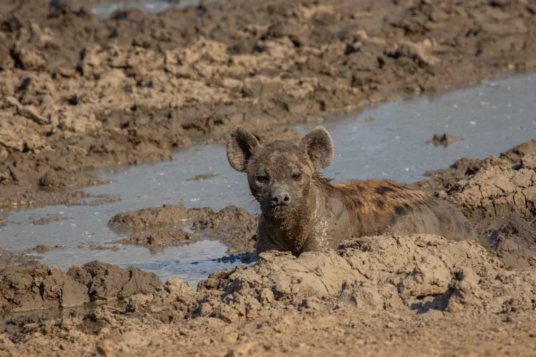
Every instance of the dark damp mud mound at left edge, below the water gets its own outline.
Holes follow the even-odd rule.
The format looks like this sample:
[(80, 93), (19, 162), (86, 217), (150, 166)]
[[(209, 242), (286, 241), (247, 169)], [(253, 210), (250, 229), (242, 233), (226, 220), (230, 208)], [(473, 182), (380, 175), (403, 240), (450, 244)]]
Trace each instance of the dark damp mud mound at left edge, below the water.
[(6, 266), (0, 273), (2, 312), (70, 307), (90, 301), (124, 299), (148, 294), (160, 287), (153, 273), (137, 268), (123, 269), (94, 261), (68, 273), (38, 261)]

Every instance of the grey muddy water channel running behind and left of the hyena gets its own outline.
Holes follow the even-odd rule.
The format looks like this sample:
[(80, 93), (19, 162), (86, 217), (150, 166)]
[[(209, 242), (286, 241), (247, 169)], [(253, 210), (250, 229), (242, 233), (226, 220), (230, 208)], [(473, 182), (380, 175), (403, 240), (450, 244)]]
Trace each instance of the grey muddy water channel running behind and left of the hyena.
[[(485, 158), (536, 137), (533, 98), (536, 76), (514, 77), (434, 98), (417, 98), (367, 109), (359, 116), (324, 125), (335, 144), (335, 158), (325, 175), (335, 181), (394, 179), (406, 183), (422, 179), (429, 169), (448, 167), (461, 157)], [(368, 116), (373, 121), (365, 121)], [(311, 127), (299, 126), (306, 132)], [(463, 137), (449, 146), (426, 144), (434, 133)], [(200, 241), (182, 248), (151, 253), (145, 248), (119, 245), (119, 251), (90, 250), (89, 245), (111, 247), (126, 232), (112, 231), (107, 221), (118, 212), (184, 204), (229, 204), (255, 211), (246, 178), (234, 172), (221, 145), (196, 146), (176, 153), (174, 162), (98, 172), (114, 183), (87, 188), (92, 194), (119, 195), (121, 201), (101, 206), (52, 206), (25, 211), (0, 212), (6, 227), (0, 228), (1, 248), (24, 251), (38, 244), (65, 245), (43, 254), (43, 264), (66, 269), (72, 264), (99, 260), (119, 266), (154, 271), (162, 280), (172, 277), (191, 284), (234, 264), (214, 261), (225, 255), (225, 245)], [(198, 174), (211, 179), (188, 181)], [(67, 220), (35, 226), (33, 219), (62, 217)], [(114, 243), (116, 242), (116, 243)], [(82, 248), (78, 248), (83, 244)]]

